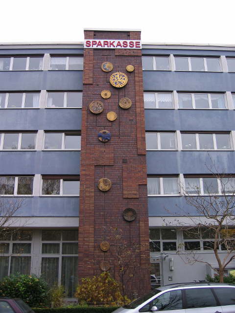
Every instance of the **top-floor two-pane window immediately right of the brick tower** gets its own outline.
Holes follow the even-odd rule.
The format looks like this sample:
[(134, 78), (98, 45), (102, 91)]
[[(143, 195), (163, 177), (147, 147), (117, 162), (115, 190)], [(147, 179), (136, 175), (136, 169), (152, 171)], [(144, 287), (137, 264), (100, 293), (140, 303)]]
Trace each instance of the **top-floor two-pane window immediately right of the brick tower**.
[(169, 70), (169, 57), (142, 57), (142, 67), (143, 70)]

